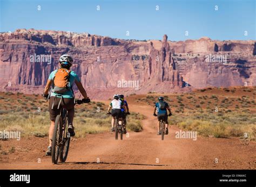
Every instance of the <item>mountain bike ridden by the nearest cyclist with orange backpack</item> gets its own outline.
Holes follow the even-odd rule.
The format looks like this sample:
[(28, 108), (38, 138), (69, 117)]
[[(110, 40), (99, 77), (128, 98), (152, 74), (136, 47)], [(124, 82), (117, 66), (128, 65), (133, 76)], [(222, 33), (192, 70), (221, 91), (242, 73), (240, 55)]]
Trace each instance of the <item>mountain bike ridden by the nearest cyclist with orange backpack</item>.
[[(90, 99), (76, 100), (75, 102), (75, 104), (82, 103), (90, 103)], [(57, 164), (58, 158), (60, 162), (65, 162), (68, 157), (71, 138), (68, 132), (68, 124), (68, 111), (62, 108), (56, 117), (52, 136), (51, 160), (53, 164)]]

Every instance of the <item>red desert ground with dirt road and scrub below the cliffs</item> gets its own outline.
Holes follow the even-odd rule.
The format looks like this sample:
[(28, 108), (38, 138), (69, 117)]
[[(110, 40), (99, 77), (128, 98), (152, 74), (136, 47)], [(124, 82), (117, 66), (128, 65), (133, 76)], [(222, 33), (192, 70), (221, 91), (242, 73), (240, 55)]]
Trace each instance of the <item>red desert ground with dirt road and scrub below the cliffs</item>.
[[(76, 136), (65, 163), (52, 165), (48, 143), (48, 103), (40, 95), (1, 92), (0, 128), (21, 132), (21, 140), (2, 139), (1, 169), (255, 169), (256, 87), (206, 88), (168, 93), (169, 135), (157, 135), (152, 115), (159, 93), (126, 97), (124, 140), (114, 140), (109, 101), (76, 106)], [(9, 103), (9, 104), (8, 104)], [(38, 111), (40, 107), (40, 111)], [(96, 112), (98, 111), (98, 112)], [(197, 139), (179, 139), (196, 131)], [(246, 135), (247, 134), (247, 135)]]

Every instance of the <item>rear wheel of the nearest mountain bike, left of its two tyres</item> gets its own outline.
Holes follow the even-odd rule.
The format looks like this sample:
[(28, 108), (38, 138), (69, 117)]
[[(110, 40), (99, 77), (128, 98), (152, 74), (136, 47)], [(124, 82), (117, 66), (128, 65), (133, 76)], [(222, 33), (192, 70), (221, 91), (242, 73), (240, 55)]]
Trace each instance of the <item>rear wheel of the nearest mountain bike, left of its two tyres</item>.
[(54, 131), (52, 136), (52, 153), (51, 161), (57, 164), (59, 158), (59, 143), (62, 141), (62, 117), (60, 114), (56, 117)]

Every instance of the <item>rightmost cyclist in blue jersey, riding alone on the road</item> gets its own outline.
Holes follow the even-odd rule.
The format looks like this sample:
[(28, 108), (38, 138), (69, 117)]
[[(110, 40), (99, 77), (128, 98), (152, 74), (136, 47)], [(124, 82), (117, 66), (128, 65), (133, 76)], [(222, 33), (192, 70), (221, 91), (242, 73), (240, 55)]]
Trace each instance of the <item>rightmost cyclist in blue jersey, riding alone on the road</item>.
[[(154, 106), (154, 113), (153, 113), (153, 116), (157, 116), (158, 118), (158, 124), (157, 124), (157, 129), (158, 129), (158, 133), (157, 135), (161, 135), (161, 132), (160, 132), (160, 117), (164, 117), (164, 121), (165, 121), (165, 134), (168, 134), (168, 116), (172, 116), (172, 112), (171, 112), (171, 109), (169, 107), (169, 104), (166, 103), (164, 101), (164, 97), (159, 97), (158, 98), (158, 101), (156, 103), (156, 105)], [(169, 111), (169, 115), (167, 115), (167, 110)], [(156, 111), (157, 111), (157, 114), (156, 114)]]

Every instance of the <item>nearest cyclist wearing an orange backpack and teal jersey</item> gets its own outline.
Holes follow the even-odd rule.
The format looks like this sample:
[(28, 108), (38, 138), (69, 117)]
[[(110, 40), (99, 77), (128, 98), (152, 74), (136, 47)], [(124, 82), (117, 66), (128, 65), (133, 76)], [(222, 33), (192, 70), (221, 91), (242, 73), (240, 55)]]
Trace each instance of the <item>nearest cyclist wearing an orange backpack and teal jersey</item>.
[(73, 127), (73, 118), (75, 114), (75, 95), (72, 90), (72, 85), (75, 82), (78, 90), (83, 95), (84, 99), (88, 99), (86, 91), (80, 82), (77, 74), (70, 70), (73, 59), (70, 55), (64, 54), (59, 57), (59, 69), (51, 72), (44, 89), (44, 98), (48, 98), (49, 89), (52, 85), (50, 93), (49, 112), (51, 125), (49, 128), (49, 146), (46, 150), (46, 155), (51, 155), (51, 144), (55, 119), (60, 113), (60, 108), (64, 107), (68, 111), (68, 132), (70, 136), (75, 136)]

